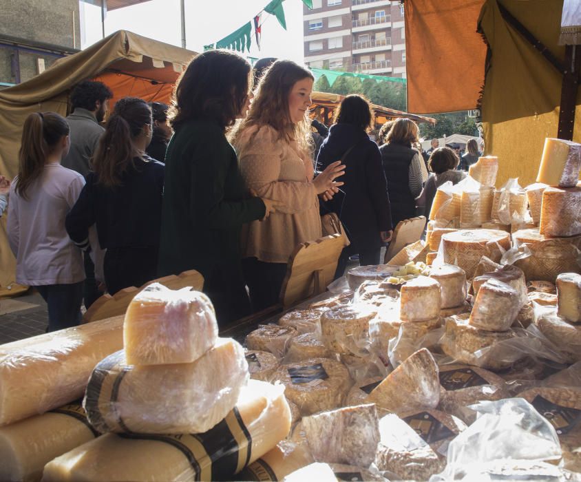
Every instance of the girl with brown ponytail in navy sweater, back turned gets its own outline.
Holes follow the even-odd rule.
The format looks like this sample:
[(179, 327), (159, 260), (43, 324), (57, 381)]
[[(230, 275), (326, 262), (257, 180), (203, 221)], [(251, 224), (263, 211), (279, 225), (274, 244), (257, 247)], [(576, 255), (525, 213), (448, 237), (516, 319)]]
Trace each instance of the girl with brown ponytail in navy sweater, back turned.
[(67, 215), (67, 231), (83, 250), (96, 225), (99, 245), (107, 249), (103, 271), (112, 295), (156, 278), (164, 169), (145, 154), (152, 130), (145, 101), (117, 101), (92, 159), (94, 171)]

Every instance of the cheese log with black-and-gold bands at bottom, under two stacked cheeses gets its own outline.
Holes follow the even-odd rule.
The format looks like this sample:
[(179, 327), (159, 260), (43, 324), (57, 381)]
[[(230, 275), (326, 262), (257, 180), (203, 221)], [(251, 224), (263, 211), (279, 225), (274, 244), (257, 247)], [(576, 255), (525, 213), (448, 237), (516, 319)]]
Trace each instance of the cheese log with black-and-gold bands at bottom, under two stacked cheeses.
[(230, 480), (289, 430), (284, 389), (251, 380), (235, 408), (204, 434), (105, 434), (48, 463), (43, 481)]

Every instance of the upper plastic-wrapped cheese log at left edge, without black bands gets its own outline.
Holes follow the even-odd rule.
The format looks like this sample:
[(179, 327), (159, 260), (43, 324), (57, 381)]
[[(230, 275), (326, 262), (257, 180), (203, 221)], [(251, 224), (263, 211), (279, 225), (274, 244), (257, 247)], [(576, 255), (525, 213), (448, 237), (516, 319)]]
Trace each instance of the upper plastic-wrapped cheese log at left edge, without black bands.
[(79, 399), (91, 370), (123, 348), (123, 316), (0, 346), (0, 426)]

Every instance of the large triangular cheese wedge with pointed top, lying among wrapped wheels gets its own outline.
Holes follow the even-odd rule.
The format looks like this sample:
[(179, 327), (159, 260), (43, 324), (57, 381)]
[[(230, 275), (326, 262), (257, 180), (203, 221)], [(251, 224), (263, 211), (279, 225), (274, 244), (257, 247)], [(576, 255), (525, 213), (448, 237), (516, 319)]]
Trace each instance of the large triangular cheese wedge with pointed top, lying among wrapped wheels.
[(438, 366), (425, 348), (393, 370), (368, 397), (369, 403), (390, 412), (436, 408), (439, 401)]

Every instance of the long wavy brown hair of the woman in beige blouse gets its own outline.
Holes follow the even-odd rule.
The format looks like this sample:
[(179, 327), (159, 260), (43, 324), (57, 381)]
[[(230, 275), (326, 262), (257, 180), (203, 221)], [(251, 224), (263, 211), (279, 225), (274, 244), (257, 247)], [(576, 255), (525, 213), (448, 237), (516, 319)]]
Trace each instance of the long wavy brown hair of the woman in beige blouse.
[(293, 61), (279, 60), (268, 67), (255, 91), (248, 116), (231, 133), (231, 142), (235, 143), (240, 133), (249, 127), (269, 125), (278, 133), (280, 140), (296, 140), (300, 149), (310, 152), (313, 137), (308, 112), (305, 112), (302, 121), (294, 124), (288, 111), (290, 91), (295, 83), (304, 78), (315, 80), (313, 74)]

